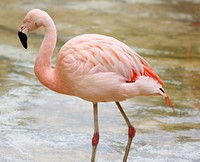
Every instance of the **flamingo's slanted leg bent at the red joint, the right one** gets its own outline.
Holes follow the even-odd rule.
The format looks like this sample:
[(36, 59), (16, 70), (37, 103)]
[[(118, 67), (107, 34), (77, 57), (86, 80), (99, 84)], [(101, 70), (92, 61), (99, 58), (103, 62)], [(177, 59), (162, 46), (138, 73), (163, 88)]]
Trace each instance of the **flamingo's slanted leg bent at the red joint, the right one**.
[(120, 103), (119, 102), (115, 102), (117, 107), (119, 108), (119, 111), (121, 112), (123, 118), (125, 119), (126, 121), (126, 124), (128, 125), (128, 143), (126, 145), (126, 151), (125, 151), (125, 154), (124, 154), (124, 158), (123, 158), (123, 162), (126, 162), (127, 161), (127, 158), (128, 158), (128, 153), (129, 153), (129, 150), (131, 148), (131, 143), (132, 143), (132, 140), (133, 140), (133, 137), (135, 136), (135, 128), (131, 125), (131, 122), (129, 121), (128, 117), (126, 116), (123, 108), (121, 107)]

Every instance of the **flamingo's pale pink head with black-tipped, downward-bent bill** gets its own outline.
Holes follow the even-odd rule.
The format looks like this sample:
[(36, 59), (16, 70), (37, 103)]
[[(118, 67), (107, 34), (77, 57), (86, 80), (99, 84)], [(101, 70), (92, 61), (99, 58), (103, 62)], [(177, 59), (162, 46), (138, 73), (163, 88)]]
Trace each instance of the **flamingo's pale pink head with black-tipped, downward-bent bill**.
[(27, 39), (29, 32), (38, 29), (42, 26), (42, 15), (45, 12), (39, 9), (30, 10), (24, 18), (23, 24), (18, 31), (19, 39), (25, 49), (27, 49)]

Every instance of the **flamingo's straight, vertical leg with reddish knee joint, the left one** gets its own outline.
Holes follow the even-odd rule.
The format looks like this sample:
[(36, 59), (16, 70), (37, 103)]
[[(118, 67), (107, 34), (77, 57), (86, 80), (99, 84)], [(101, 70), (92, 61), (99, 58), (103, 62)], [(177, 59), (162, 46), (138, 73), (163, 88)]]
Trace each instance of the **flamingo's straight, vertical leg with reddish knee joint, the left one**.
[(94, 135), (92, 138), (92, 158), (91, 162), (95, 162), (97, 145), (99, 143), (99, 126), (98, 126), (98, 108), (97, 103), (93, 103), (94, 111)]

